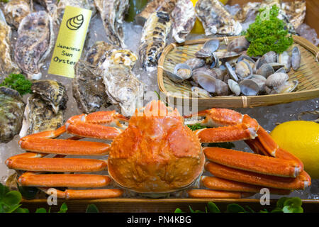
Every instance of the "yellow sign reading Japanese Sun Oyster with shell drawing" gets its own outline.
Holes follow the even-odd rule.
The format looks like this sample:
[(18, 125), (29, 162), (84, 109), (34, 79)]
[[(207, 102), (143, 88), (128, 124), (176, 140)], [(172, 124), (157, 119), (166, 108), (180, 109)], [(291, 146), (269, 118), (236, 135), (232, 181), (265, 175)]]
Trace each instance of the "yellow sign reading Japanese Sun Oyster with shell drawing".
[(73, 6), (65, 7), (53, 51), (49, 74), (74, 77), (74, 65), (81, 57), (92, 11)]

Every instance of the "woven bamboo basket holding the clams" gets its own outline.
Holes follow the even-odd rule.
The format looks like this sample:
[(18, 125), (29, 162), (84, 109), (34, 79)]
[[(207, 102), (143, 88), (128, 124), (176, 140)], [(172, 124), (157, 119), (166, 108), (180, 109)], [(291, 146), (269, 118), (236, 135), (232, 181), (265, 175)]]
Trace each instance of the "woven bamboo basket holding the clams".
[[(239, 36), (218, 38), (220, 42), (227, 44), (230, 40)], [(187, 40), (185, 43), (172, 43), (168, 45), (159, 58), (157, 67), (157, 82), (159, 90), (164, 92), (167, 99), (174, 100), (174, 103), (194, 104), (201, 107), (220, 108), (247, 108), (254, 106), (270, 106), (274, 104), (284, 104), (291, 101), (301, 101), (319, 97), (319, 50), (315, 45), (305, 38), (293, 35), (293, 45), (301, 51), (301, 65), (295, 72), (292, 68), (289, 80), (298, 79), (298, 87), (294, 92), (286, 94), (268, 94), (259, 96), (214, 96), (210, 98), (191, 97), (191, 84), (188, 80), (176, 83), (172, 82), (164, 71), (173, 72), (174, 65), (185, 62), (191, 57), (195, 57), (195, 52), (201, 49), (203, 43), (210, 38), (200, 40)], [(291, 50), (289, 48), (289, 50)], [(177, 100), (183, 99), (183, 100)], [(185, 100), (189, 99), (189, 100)], [(193, 99), (197, 99), (194, 102)]]

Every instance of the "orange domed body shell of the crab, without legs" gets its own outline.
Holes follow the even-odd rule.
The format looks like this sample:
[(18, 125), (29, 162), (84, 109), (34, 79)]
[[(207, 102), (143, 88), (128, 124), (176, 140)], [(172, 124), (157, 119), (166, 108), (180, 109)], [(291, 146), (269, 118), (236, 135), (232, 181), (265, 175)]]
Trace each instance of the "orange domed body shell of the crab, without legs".
[(152, 101), (136, 111), (128, 128), (113, 140), (108, 173), (135, 192), (166, 193), (188, 187), (204, 164), (201, 143), (177, 109)]

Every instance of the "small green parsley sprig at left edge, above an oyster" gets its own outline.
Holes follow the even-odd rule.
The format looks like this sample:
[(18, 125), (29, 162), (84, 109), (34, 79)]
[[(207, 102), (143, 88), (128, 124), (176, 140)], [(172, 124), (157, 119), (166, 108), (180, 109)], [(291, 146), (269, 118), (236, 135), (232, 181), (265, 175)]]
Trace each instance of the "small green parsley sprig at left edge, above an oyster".
[(28, 94), (31, 92), (32, 83), (26, 79), (23, 74), (9, 74), (8, 77), (0, 84), (0, 87), (9, 87), (15, 89), (21, 94)]

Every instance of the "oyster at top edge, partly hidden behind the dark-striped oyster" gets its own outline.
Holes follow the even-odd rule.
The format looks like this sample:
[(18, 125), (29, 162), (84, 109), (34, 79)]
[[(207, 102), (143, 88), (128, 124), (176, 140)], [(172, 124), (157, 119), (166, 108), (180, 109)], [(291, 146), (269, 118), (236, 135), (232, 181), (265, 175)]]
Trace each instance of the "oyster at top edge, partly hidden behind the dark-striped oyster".
[(177, 0), (153, 0), (150, 1), (145, 8), (135, 16), (136, 23), (141, 26), (145, 25), (145, 22), (150, 17), (152, 13), (156, 11), (164, 11), (168, 14), (172, 13), (174, 10), (175, 4)]

